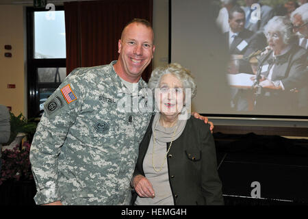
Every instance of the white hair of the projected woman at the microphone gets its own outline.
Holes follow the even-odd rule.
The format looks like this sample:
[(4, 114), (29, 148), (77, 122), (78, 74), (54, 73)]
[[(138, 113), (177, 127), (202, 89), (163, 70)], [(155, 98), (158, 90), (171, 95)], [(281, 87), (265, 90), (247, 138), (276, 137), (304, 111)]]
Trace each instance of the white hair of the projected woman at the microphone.
[(290, 44), (294, 39), (293, 26), (289, 18), (285, 16), (274, 16), (264, 27), (264, 34), (268, 32), (278, 31), (283, 36), (283, 43)]

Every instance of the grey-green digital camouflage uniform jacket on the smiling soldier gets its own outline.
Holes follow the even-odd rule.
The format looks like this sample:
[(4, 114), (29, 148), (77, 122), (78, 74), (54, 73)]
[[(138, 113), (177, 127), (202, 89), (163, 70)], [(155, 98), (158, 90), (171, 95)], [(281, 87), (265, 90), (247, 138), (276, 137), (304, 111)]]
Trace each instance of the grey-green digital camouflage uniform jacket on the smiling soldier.
[[(36, 204), (129, 204), (129, 182), (152, 112), (117, 109), (125, 93), (138, 103), (150, 94), (132, 97), (115, 63), (73, 70), (44, 104), (30, 153)], [(138, 86), (147, 88), (142, 79)]]

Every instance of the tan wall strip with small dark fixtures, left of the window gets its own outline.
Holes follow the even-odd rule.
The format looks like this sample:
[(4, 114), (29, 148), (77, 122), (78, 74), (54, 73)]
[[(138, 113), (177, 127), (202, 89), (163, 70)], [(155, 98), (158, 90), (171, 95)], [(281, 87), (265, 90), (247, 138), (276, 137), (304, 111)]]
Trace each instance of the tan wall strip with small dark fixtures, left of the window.
[[(22, 5), (0, 5), (0, 104), (12, 107), (17, 116), (27, 114), (25, 77), (25, 26)], [(12, 50), (4, 49), (9, 44)], [(12, 57), (4, 57), (4, 53)], [(16, 88), (9, 89), (8, 84)]]

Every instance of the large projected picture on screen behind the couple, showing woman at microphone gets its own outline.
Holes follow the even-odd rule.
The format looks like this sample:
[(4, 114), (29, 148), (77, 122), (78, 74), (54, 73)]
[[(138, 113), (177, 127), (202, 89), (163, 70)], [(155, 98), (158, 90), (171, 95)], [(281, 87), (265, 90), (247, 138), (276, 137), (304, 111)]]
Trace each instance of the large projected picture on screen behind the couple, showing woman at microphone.
[(198, 81), (194, 110), (307, 118), (308, 3), (172, 0), (170, 19), (171, 62)]

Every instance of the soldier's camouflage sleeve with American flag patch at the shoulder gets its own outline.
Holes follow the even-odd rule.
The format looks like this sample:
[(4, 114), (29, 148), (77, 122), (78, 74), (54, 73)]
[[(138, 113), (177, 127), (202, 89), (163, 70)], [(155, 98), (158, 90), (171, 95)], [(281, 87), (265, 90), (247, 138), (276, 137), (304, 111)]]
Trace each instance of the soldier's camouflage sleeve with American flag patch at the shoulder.
[(37, 205), (60, 200), (57, 157), (80, 110), (86, 89), (77, 76), (69, 75), (44, 103), (44, 114), (31, 144), (30, 162), (36, 181), (34, 200)]

